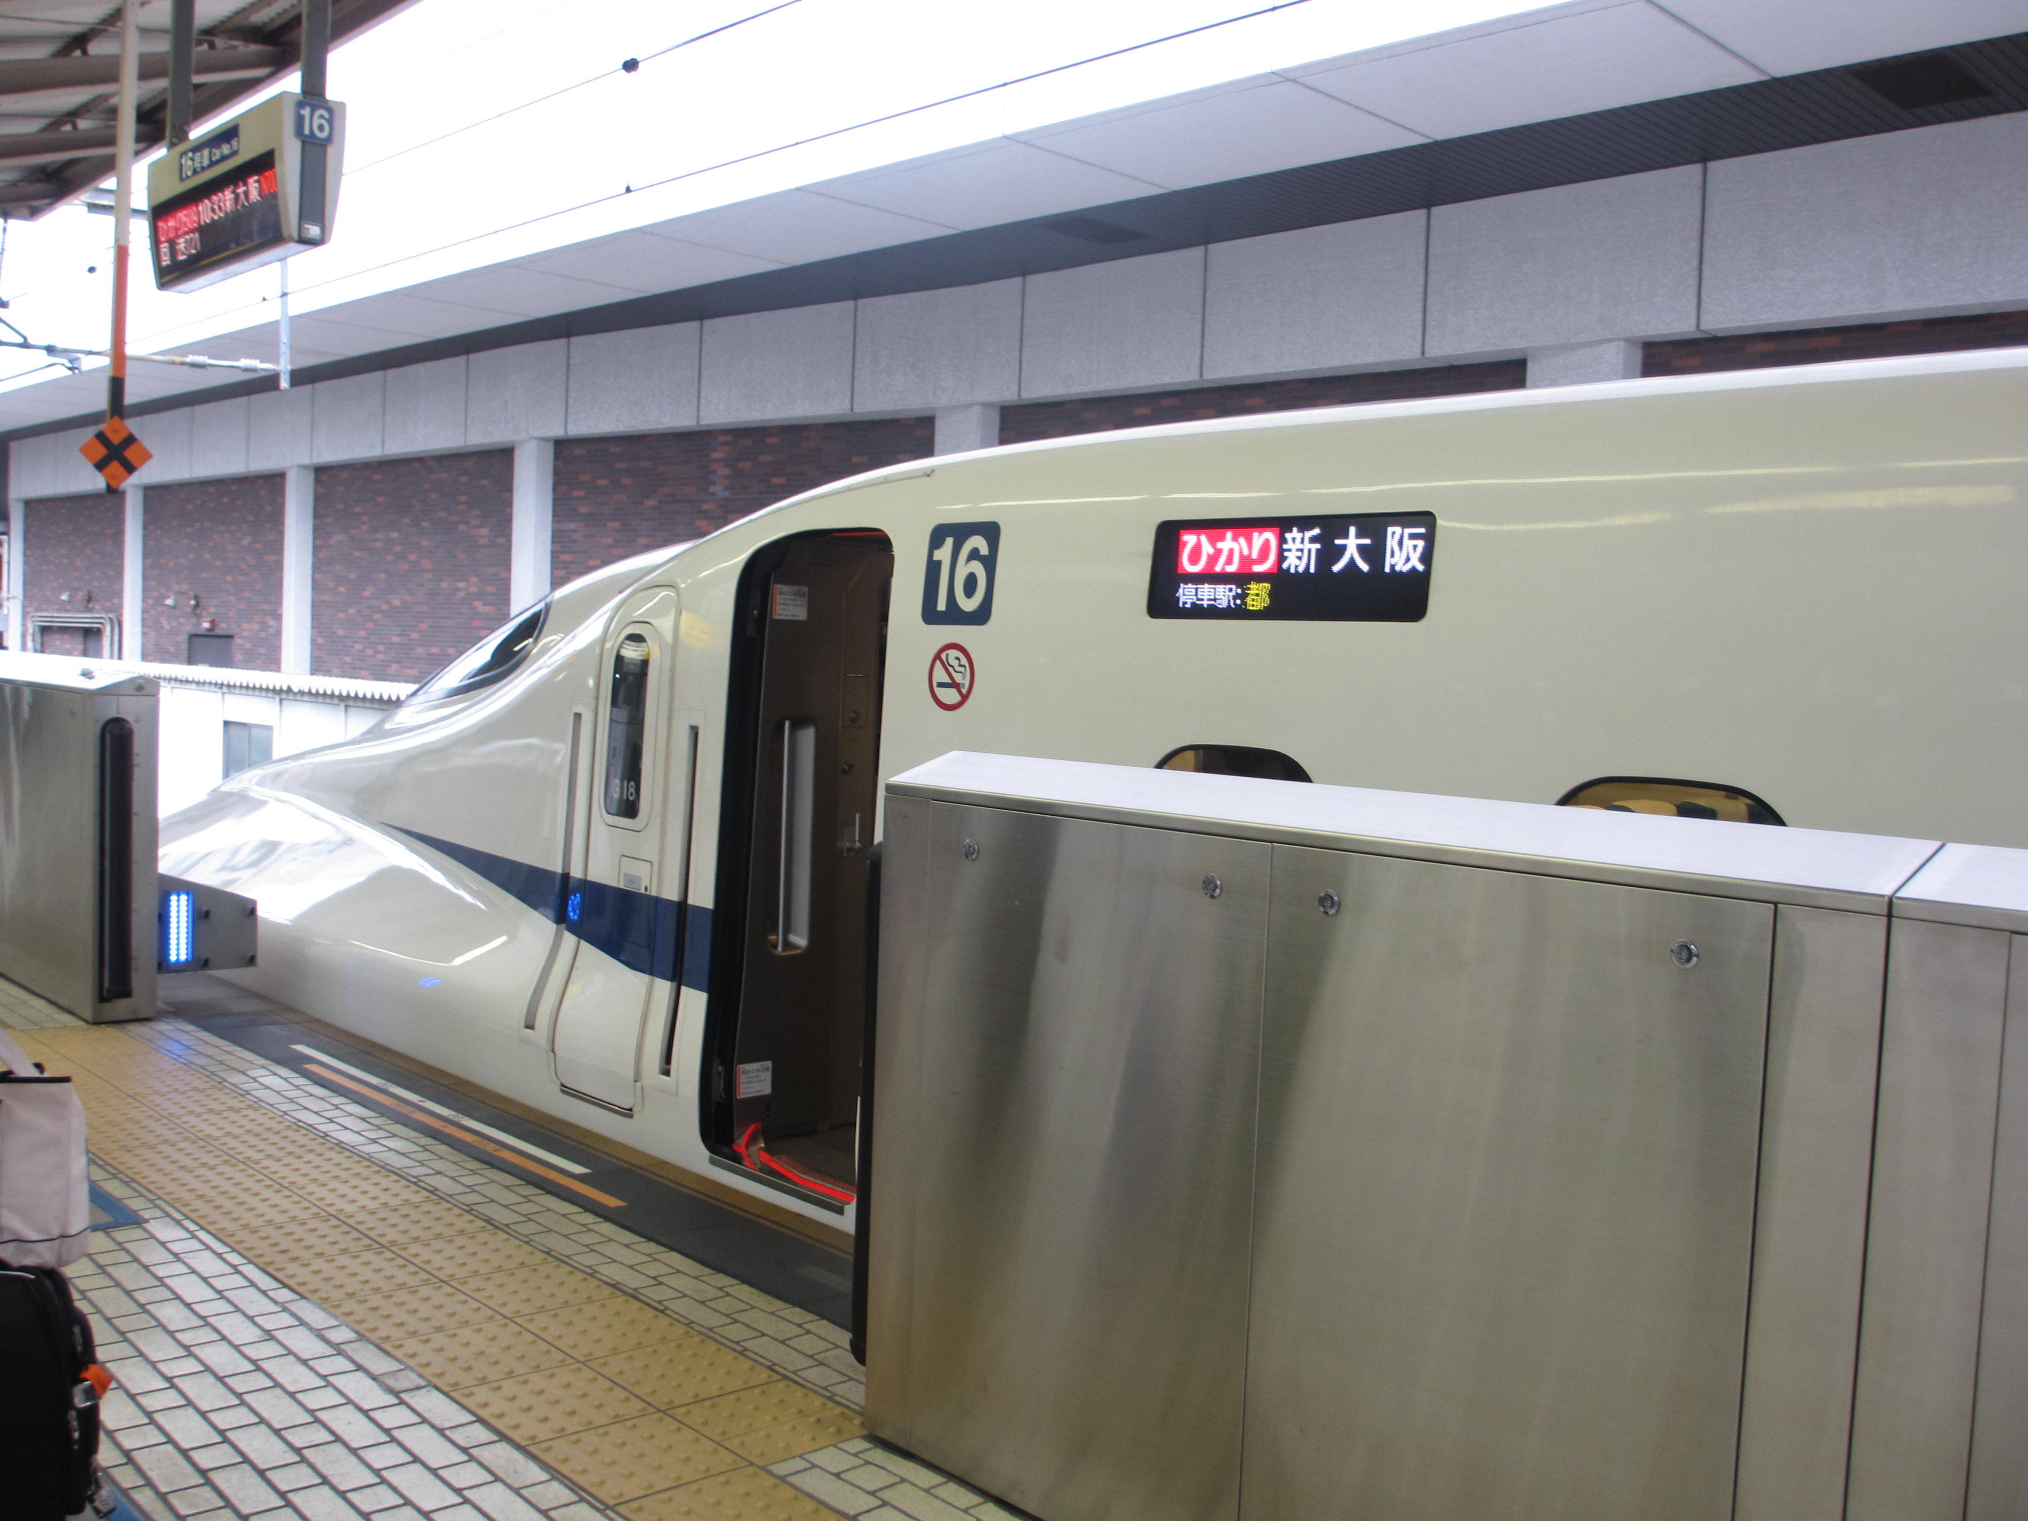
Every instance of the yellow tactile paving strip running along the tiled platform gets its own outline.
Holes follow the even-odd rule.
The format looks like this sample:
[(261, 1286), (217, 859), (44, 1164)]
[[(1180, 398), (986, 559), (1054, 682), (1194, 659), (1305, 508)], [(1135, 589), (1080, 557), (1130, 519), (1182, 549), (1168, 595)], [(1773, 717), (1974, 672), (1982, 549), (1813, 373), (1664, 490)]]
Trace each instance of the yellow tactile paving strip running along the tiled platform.
[(312, 1136), (118, 1026), (22, 1030), (91, 1150), (635, 1521), (834, 1515), (756, 1464), (842, 1405)]

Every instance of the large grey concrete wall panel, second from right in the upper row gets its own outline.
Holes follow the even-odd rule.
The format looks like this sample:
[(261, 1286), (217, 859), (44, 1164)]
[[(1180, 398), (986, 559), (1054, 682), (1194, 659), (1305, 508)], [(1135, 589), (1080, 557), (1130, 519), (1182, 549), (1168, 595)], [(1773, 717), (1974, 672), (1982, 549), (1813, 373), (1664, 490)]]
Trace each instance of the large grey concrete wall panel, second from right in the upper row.
[(1438, 207), (1426, 353), (1693, 333), (1701, 183), (1689, 164)]

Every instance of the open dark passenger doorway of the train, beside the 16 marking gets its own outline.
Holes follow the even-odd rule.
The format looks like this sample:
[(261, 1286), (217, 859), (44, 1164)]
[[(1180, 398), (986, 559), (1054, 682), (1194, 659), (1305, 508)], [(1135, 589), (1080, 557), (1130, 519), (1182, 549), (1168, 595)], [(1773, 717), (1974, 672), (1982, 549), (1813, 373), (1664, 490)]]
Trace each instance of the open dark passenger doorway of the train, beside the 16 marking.
[(704, 1134), (722, 1164), (854, 1197), (868, 852), (894, 554), (785, 539), (740, 580)]

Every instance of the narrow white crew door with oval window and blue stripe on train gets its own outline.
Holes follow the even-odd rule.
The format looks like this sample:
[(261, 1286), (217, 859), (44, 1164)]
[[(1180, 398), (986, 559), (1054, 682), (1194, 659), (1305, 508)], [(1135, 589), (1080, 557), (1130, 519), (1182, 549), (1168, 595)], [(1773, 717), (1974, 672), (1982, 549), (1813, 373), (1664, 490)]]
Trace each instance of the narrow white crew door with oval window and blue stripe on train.
[[(687, 765), (671, 744), (677, 596), (633, 592), (604, 639), (592, 726), (588, 838), (582, 876), (566, 888), (574, 955), (550, 1032), (556, 1081), (576, 1097), (631, 1111), (639, 1095), (641, 1032), (657, 990), (673, 998), (681, 904), (663, 896), (690, 842), (681, 799)], [(675, 868), (675, 870), (671, 870)]]

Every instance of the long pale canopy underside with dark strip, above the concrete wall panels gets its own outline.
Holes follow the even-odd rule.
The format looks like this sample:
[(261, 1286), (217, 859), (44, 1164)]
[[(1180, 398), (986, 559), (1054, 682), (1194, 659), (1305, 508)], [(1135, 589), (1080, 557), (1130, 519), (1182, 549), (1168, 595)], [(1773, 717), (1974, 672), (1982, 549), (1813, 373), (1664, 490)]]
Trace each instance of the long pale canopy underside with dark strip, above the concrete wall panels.
[[(298, 383), (2020, 110), (2028, 0), (1572, 0), (329, 306), (294, 322)], [(272, 361), (274, 327), (205, 349)], [(136, 416), (274, 385), (144, 371)], [(0, 438), (87, 420), (101, 385), (0, 395)]]

